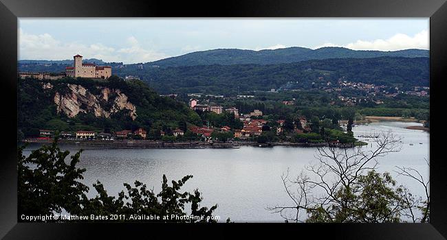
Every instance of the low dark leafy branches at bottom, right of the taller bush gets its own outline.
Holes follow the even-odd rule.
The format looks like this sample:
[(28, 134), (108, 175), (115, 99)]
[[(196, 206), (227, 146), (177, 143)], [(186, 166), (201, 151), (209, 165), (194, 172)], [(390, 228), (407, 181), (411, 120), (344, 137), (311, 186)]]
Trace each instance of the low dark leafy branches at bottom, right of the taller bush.
[[(135, 181), (135, 187), (124, 183), (126, 193), (121, 191), (118, 197), (109, 196), (104, 186), (98, 181), (94, 188), (98, 195), (93, 199), (83, 200), (84, 208), (76, 213), (78, 215), (124, 215), (131, 221), (154, 221), (154, 222), (216, 222), (212, 218), (212, 212), (217, 208), (217, 204), (211, 208), (200, 207), (203, 199), (201, 193), (195, 189), (194, 193), (180, 192), (183, 185), (193, 176), (184, 176), (178, 181), (172, 181), (169, 186), (168, 179), (163, 175), (162, 190), (160, 193), (154, 193), (148, 189), (146, 184)], [(190, 215), (197, 218), (186, 219), (190, 216), (185, 211), (185, 204), (190, 204)], [(155, 215), (159, 219), (138, 219), (138, 215)], [(177, 217), (172, 218), (171, 215)], [(164, 219), (164, 216), (168, 216)], [(134, 217), (134, 219), (131, 219)], [(121, 219), (122, 220), (122, 219)], [(124, 220), (122, 220), (124, 221)]]

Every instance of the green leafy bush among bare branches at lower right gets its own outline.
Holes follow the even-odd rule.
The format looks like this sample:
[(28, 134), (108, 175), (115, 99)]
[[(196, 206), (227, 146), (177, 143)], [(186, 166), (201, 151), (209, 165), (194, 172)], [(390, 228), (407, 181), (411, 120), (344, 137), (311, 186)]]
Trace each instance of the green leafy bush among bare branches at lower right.
[[(309, 208), (306, 222), (400, 222), (404, 204), (403, 187), (395, 187), (389, 173), (369, 171), (359, 176), (353, 187), (342, 187), (334, 194), (334, 204)], [(341, 203), (341, 204), (339, 204)]]

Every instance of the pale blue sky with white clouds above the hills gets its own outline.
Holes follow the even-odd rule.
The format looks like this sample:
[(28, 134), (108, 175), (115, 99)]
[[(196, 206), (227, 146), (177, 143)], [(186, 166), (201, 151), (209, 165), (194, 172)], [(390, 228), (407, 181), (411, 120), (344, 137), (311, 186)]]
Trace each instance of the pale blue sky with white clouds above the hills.
[(152, 62), (209, 49), (429, 49), (428, 18), (20, 18), (19, 60)]

